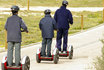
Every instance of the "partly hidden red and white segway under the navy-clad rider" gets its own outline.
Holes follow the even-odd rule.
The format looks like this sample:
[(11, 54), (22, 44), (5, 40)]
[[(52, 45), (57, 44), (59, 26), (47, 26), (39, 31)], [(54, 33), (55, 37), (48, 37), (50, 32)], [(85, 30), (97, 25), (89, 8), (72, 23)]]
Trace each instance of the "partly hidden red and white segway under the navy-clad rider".
[(73, 46), (70, 45), (67, 47), (67, 52), (63, 53), (63, 51), (61, 51), (61, 53), (59, 53), (60, 57), (69, 57), (69, 59), (73, 58)]

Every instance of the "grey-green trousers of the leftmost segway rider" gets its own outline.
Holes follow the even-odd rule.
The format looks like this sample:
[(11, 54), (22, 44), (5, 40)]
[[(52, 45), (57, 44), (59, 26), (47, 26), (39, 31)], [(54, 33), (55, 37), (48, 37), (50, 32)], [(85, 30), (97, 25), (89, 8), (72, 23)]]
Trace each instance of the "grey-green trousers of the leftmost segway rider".
[(8, 42), (8, 53), (7, 53), (7, 62), (9, 66), (13, 64), (13, 48), (15, 47), (15, 65), (19, 66), (21, 55), (21, 43)]

